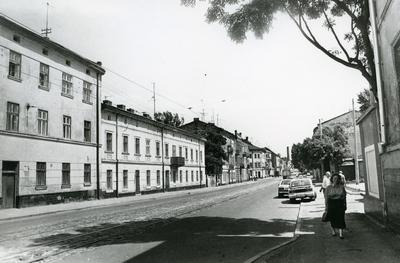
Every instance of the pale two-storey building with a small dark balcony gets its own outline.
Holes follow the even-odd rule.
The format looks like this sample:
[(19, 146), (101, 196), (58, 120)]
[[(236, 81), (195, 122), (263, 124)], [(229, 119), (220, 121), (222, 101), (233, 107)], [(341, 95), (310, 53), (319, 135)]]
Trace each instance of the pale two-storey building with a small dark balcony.
[(102, 103), (101, 192), (105, 197), (206, 185), (204, 142), (198, 135)]

